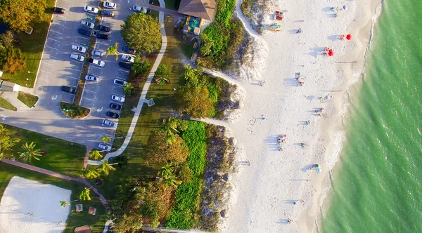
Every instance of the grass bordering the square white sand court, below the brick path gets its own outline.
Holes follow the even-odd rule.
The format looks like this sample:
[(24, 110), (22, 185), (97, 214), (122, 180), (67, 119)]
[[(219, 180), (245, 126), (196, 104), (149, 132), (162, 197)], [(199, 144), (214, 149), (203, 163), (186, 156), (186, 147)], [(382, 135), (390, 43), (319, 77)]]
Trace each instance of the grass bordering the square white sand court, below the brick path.
[[(64, 189), (69, 189), (72, 191), (71, 200), (77, 199), (79, 193), (84, 189), (84, 185), (79, 185), (76, 182), (70, 182), (67, 180), (61, 180), (58, 178), (53, 178), (49, 175), (44, 175), (36, 173), (34, 171), (28, 171), (23, 168), (18, 168), (9, 164), (0, 165), (0, 199), (4, 194), (8, 182), (13, 178), (13, 176), (20, 176), (21, 178), (36, 180), (44, 184), (56, 185)], [(48, 199), (49, 197), (45, 197)], [(82, 204), (84, 211), (76, 213), (75, 204)], [(57, 203), (59, 205), (59, 203)], [(89, 215), (89, 207), (96, 208), (96, 215)], [(68, 215), (68, 220), (66, 221), (66, 227), (64, 232), (74, 232), (75, 227), (82, 225), (90, 225), (93, 232), (103, 232), (104, 223), (106, 222), (106, 208), (104, 208), (101, 201), (96, 197), (94, 192), (91, 192), (91, 201), (79, 201), (71, 203), (70, 214)], [(63, 210), (64, 211), (64, 210)]]

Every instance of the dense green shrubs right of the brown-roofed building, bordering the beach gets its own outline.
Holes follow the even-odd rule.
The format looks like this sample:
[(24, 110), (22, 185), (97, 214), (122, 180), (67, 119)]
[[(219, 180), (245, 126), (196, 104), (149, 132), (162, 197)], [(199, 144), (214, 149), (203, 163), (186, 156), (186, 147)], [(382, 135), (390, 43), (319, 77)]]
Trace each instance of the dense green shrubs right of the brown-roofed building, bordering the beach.
[(198, 65), (216, 69), (234, 66), (235, 52), (244, 39), (243, 25), (233, 18), (236, 0), (220, 0), (214, 22), (200, 35)]

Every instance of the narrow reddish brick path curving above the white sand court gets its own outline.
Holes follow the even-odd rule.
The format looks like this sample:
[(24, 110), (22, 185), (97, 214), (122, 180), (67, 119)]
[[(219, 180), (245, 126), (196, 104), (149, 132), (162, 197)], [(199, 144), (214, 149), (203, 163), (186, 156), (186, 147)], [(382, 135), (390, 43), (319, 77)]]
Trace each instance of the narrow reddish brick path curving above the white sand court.
[(72, 182), (78, 182), (78, 183), (80, 183), (82, 185), (85, 185), (85, 186), (89, 187), (89, 189), (91, 189), (98, 196), (98, 198), (100, 199), (100, 201), (103, 204), (103, 206), (106, 207), (107, 210), (110, 209), (110, 207), (108, 206), (108, 202), (103, 197), (103, 195), (100, 192), (98, 192), (98, 190), (95, 187), (93, 187), (84, 178), (70, 177), (68, 175), (63, 175), (63, 174), (60, 174), (60, 173), (49, 171), (49, 170), (46, 170), (46, 169), (43, 169), (43, 168), (39, 168), (39, 167), (36, 167), (36, 166), (32, 166), (32, 165), (29, 165), (29, 164), (23, 164), (21, 162), (13, 161), (13, 160), (10, 160), (10, 159), (1, 159), (0, 162), (5, 163), (5, 164), (10, 164), (10, 165), (13, 165), (13, 166), (18, 166), (20, 168), (25, 168), (27, 170), (34, 171), (34, 172), (37, 172), (37, 173), (42, 173), (42, 174), (45, 174), (45, 175), (50, 175), (50, 176), (53, 176), (55, 178), (59, 178), (59, 179), (63, 179), (63, 180), (69, 180), (69, 181), (72, 181)]

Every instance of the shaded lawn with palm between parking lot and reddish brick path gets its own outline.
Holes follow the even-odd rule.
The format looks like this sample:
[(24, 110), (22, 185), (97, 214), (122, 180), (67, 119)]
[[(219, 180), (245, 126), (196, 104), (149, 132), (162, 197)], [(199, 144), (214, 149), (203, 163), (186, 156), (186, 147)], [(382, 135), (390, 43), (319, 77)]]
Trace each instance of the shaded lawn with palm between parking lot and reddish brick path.
[(46, 150), (46, 155), (39, 157), (39, 161), (32, 159), (31, 165), (75, 177), (82, 173), (85, 152), (87, 152), (84, 145), (52, 138), (22, 128), (7, 125), (4, 125), (4, 127), (10, 131), (11, 138), (20, 138), (20, 142), (13, 147), (13, 155), (16, 157), (23, 151), (22, 145), (25, 142), (28, 144), (34, 142), (37, 145), (36, 149)]

